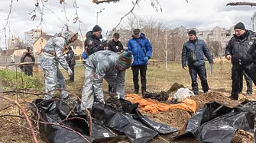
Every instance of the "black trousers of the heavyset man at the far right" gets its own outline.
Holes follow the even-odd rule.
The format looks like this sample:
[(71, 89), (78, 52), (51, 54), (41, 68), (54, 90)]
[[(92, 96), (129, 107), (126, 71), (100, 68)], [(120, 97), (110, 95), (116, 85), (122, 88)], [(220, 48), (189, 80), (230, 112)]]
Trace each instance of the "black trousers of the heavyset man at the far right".
[(245, 75), (247, 91), (252, 93), (252, 81), (256, 84), (256, 63), (232, 65), (232, 97), (238, 97), (238, 94), (242, 91), (243, 75)]

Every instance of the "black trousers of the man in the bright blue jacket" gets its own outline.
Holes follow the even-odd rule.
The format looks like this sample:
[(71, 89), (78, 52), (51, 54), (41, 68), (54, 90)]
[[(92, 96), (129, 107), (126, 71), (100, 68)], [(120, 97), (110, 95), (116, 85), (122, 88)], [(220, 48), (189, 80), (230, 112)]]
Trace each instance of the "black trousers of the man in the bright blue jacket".
[(133, 83), (134, 83), (134, 91), (139, 90), (138, 84), (138, 74), (140, 72), (141, 75), (141, 91), (147, 90), (147, 65), (131, 65), (132, 74), (133, 74)]

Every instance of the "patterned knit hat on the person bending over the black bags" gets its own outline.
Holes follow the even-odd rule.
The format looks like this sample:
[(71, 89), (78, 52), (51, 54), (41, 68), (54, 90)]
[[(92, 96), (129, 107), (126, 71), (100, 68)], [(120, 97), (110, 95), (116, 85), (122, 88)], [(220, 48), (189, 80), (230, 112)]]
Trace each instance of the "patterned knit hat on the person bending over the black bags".
[(116, 64), (125, 69), (130, 68), (132, 64), (132, 52), (123, 52), (121, 55), (118, 56)]

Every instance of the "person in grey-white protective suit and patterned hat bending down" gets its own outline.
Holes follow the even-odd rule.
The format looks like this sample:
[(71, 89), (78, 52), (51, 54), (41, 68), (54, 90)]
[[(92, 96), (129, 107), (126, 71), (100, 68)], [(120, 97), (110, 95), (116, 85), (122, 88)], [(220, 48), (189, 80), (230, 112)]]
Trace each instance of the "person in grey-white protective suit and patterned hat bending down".
[(86, 62), (81, 110), (91, 109), (94, 102), (105, 103), (102, 81), (115, 88), (115, 97), (125, 99), (125, 70), (131, 67), (132, 52), (118, 55), (109, 50), (93, 53)]

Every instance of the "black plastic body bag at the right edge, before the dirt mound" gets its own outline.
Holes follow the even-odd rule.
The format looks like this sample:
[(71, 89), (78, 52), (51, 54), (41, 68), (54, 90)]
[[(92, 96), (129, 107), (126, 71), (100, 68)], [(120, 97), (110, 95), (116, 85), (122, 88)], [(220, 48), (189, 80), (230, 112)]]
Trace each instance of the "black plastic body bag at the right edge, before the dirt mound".
[(198, 141), (229, 143), (237, 129), (254, 132), (256, 102), (245, 101), (230, 108), (219, 103), (206, 103), (186, 122), (185, 131), (176, 138), (193, 135)]

